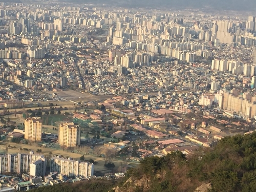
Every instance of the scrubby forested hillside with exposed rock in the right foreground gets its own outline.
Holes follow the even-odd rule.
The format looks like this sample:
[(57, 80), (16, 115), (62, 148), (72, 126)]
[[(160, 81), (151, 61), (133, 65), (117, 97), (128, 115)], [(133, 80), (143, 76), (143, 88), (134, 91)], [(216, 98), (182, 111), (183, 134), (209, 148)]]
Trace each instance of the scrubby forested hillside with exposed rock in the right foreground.
[(252, 192), (256, 191), (255, 168), (256, 133), (226, 137), (214, 148), (201, 148), (190, 157), (176, 152), (146, 158), (138, 168), (129, 170), (125, 180), (116, 183), (95, 180), (32, 191), (189, 192), (209, 183), (212, 192)]

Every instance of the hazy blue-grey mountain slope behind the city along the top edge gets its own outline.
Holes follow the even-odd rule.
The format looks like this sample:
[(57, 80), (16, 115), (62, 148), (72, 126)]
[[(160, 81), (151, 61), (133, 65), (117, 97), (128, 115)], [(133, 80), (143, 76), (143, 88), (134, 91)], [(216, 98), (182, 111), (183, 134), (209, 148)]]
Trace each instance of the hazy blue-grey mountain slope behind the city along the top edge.
[(256, 10), (255, 0), (59, 0), (79, 4), (111, 4), (122, 7), (155, 7), (155, 8), (212, 8), (218, 10)]

